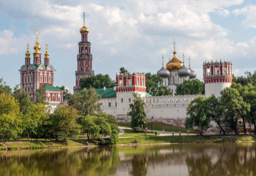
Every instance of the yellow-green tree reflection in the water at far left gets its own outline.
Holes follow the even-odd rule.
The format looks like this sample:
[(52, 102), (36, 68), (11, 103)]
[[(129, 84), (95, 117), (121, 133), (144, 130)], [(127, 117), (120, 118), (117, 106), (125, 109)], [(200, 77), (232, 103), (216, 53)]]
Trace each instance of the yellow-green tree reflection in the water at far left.
[(116, 148), (31, 152), (28, 155), (0, 155), (0, 175), (113, 175), (119, 163)]

